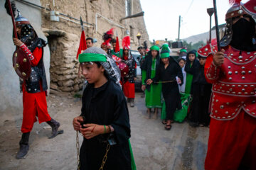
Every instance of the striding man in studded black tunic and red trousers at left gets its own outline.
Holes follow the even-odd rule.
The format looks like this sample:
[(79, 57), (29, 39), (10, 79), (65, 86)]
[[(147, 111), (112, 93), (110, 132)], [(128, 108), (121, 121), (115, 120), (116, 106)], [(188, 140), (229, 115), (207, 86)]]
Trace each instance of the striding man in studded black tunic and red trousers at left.
[(21, 16), (19, 11), (18, 16), (15, 18), (15, 23), (18, 38), (14, 38), (14, 45), (23, 50), (31, 62), (30, 77), (21, 81), (21, 91), (23, 91), (21, 132), (23, 134), (19, 142), (20, 149), (16, 155), (17, 159), (21, 159), (28, 153), (28, 138), (33, 128), (33, 123), (37, 121), (36, 117), (38, 117), (39, 123), (46, 122), (52, 128), (52, 135), (49, 138), (63, 133), (63, 130), (58, 131), (60, 123), (50, 118), (47, 111), (46, 91), (48, 87), (43, 64), (43, 47), (46, 46), (46, 41), (38, 38), (29, 21)]

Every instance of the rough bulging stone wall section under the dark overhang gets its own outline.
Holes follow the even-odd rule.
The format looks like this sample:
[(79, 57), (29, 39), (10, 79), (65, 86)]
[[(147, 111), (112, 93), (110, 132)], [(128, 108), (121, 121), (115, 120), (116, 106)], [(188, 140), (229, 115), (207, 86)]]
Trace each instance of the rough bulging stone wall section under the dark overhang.
[(84, 79), (78, 78), (78, 60), (74, 57), (78, 35), (62, 30), (43, 30), (50, 47), (50, 93), (79, 91)]

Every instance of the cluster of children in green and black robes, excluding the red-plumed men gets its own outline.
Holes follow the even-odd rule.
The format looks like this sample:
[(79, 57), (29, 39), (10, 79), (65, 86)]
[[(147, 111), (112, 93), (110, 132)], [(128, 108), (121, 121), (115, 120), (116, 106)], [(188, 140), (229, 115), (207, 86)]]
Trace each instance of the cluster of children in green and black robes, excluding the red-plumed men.
[(153, 45), (150, 50), (138, 47), (138, 51), (146, 118), (156, 119), (161, 113), (166, 130), (171, 129), (171, 123), (186, 118), (193, 127), (208, 126), (211, 84), (204, 77), (206, 57), (182, 48), (176, 60), (167, 44), (160, 48)]

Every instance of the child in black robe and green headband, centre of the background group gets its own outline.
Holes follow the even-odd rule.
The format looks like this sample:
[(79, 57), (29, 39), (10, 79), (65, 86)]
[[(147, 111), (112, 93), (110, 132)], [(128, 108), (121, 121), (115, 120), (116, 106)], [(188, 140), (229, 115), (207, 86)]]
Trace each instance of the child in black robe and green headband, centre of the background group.
[(178, 84), (183, 84), (183, 74), (178, 62), (170, 57), (168, 50), (161, 50), (161, 62), (156, 69), (156, 76), (149, 84), (158, 83), (161, 80), (162, 94), (166, 102), (166, 130), (171, 130), (171, 122), (176, 109), (181, 109), (181, 96), (178, 91)]

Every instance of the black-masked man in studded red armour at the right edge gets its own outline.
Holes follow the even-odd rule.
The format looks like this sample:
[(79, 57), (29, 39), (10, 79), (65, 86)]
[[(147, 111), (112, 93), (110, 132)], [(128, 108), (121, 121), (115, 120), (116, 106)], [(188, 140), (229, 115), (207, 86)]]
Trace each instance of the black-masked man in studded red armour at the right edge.
[(208, 55), (206, 80), (213, 84), (205, 169), (256, 169), (256, 1), (235, 2), (225, 16), (225, 35)]

